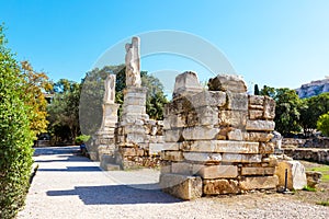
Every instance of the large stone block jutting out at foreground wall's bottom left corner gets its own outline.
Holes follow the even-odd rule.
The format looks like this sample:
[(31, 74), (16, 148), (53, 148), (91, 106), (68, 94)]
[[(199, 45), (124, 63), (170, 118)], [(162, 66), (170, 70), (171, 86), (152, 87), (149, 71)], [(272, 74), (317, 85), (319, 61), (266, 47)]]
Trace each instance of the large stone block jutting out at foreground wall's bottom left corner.
[(200, 176), (161, 174), (159, 185), (164, 193), (184, 200), (202, 196), (202, 178)]

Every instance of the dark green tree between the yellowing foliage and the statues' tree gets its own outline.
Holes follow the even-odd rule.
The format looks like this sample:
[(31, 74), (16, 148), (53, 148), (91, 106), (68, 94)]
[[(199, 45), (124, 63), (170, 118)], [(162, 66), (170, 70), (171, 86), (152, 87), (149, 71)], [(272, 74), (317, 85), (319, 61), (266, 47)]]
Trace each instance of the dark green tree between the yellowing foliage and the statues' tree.
[(54, 83), (54, 97), (48, 105), (49, 132), (55, 142), (71, 143), (80, 135), (79, 102), (81, 85), (60, 79)]

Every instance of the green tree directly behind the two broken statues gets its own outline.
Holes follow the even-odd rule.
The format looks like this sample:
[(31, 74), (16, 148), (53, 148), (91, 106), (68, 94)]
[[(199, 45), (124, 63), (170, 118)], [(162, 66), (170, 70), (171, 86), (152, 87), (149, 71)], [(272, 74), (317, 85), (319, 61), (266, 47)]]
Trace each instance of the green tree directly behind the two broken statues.
[[(87, 72), (82, 79), (82, 92), (80, 99), (80, 124), (82, 132), (93, 135), (102, 123), (102, 103), (104, 95), (104, 80), (109, 74), (116, 74), (115, 103), (121, 104), (121, 116), (126, 88), (125, 66), (105, 66), (102, 69), (93, 69)], [(154, 119), (163, 118), (163, 105), (168, 102), (163, 94), (161, 82), (147, 73), (140, 72), (141, 85), (147, 88), (146, 112)]]

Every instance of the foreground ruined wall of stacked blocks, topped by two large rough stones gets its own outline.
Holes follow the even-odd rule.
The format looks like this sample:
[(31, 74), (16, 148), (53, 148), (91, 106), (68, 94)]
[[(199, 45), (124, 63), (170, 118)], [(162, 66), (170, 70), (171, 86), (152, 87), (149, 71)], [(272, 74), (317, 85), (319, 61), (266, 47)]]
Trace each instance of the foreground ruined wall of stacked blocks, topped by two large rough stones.
[[(185, 72), (177, 80), (180, 84), (182, 80), (198, 83), (193, 72)], [(266, 96), (248, 95), (243, 80), (237, 76), (211, 79), (209, 91), (196, 84), (189, 93), (191, 85), (181, 87), (186, 89), (181, 89), (182, 93), (175, 90), (175, 97), (164, 110), (166, 146), (161, 152), (160, 176), (164, 191), (190, 199), (195, 194), (275, 188), (276, 163), (271, 158), (274, 146), (270, 142), (275, 102)], [(170, 183), (184, 175), (189, 176), (185, 180), (190, 184)], [(202, 186), (195, 185), (197, 182)], [(202, 192), (182, 196), (178, 191), (184, 185)]]

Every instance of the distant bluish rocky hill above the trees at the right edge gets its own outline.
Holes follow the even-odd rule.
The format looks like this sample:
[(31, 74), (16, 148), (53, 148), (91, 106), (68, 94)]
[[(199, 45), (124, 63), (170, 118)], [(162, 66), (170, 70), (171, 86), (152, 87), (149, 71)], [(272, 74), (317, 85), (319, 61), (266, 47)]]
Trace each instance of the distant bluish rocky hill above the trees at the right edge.
[(329, 77), (324, 80), (311, 81), (310, 83), (303, 84), (296, 92), (300, 99), (306, 99), (329, 92)]

